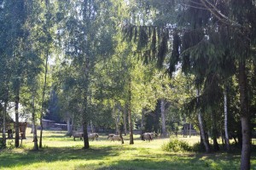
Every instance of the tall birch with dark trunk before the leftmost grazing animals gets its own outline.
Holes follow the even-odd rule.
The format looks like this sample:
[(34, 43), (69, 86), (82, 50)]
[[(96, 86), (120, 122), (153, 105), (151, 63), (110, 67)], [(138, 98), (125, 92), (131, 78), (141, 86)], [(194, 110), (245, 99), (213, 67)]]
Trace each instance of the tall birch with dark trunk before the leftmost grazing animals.
[[(81, 99), (82, 125), (84, 133), (84, 149), (90, 147), (87, 134), (92, 105), (92, 75), (99, 56), (107, 57), (113, 45), (109, 37), (112, 31), (106, 23), (111, 19), (110, 1), (97, 2), (91, 0), (66, 2), (60, 1), (60, 13), (65, 28), (60, 28), (60, 34), (65, 35), (60, 41), (66, 57), (71, 59), (79, 74), (77, 88)], [(108, 7), (108, 8), (107, 8)], [(67, 10), (68, 8), (68, 10)], [(110, 49), (110, 50), (109, 50)]]

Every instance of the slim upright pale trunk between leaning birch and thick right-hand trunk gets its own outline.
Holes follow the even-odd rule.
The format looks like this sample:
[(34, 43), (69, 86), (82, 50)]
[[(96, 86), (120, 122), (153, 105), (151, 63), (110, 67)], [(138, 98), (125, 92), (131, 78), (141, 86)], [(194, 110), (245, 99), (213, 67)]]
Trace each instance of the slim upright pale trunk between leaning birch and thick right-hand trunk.
[(228, 131), (228, 99), (227, 99), (227, 88), (224, 87), (224, 141), (227, 151), (230, 151), (230, 137)]

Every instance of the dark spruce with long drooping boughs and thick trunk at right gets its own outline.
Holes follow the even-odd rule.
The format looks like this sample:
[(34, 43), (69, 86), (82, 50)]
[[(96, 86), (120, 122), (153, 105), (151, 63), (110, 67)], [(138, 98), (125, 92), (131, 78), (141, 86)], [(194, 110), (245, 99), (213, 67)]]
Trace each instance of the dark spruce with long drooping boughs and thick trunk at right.
[[(177, 6), (175, 6), (175, 3), (181, 7), (178, 8), (179, 10), (176, 10), (177, 8), (175, 7)], [(252, 52), (251, 47), (254, 42), (252, 35), (255, 35), (255, 22), (252, 20), (252, 16), (255, 14), (253, 1), (238, 2), (235, 0), (230, 2), (217, 1), (215, 3), (207, 0), (184, 1), (183, 3), (175, 1), (159, 1), (158, 3), (140, 1), (140, 4), (146, 7), (144, 11), (149, 11), (146, 14), (151, 12), (150, 7), (159, 10), (158, 13), (160, 14), (160, 16), (156, 17), (157, 20), (153, 20), (153, 24), (152, 22), (148, 22), (147, 26), (125, 26), (127, 37), (137, 40), (138, 44), (140, 44), (138, 47), (144, 50), (145, 59), (148, 56), (154, 57), (155, 49), (157, 49), (155, 47), (159, 47), (160, 51), (157, 59), (160, 61), (160, 64), (162, 63), (168, 52), (166, 42), (169, 39), (169, 32), (171, 31), (174, 33), (178, 32), (177, 36), (183, 39), (179, 45), (175, 34), (173, 34), (172, 52), (174, 53), (172, 53), (172, 57), (170, 58), (169, 67), (169, 71), (171, 72), (174, 71), (177, 61), (180, 61), (183, 71), (191, 72), (203, 80), (208, 76), (208, 73), (212, 71), (216, 72), (223, 66), (222, 63), (212, 62), (212, 60), (218, 61), (218, 59), (224, 59), (228, 56), (232, 61), (236, 59), (236, 62), (239, 63), (241, 125), (243, 129), (241, 169), (249, 168), (250, 144), (248, 133), (250, 130), (248, 128), (249, 112), (247, 110), (246, 63), (247, 59), (252, 56), (250, 53)], [(169, 8), (169, 10), (163, 10), (166, 8)], [(177, 22), (173, 22), (173, 19), (170, 18), (161, 18), (163, 14), (169, 14), (171, 11), (173, 12), (172, 16), (178, 14), (176, 15), (177, 18), (173, 18), (174, 20), (177, 19)], [(166, 16), (170, 16), (168, 14)], [(152, 25), (150, 26), (150, 24)], [(152, 31), (156, 26), (158, 26), (157, 34), (159, 38), (157, 42), (159, 43), (155, 43), (154, 31)], [(137, 34), (132, 32), (137, 32)], [(247, 40), (243, 39), (245, 37), (248, 37)], [(151, 43), (148, 45), (148, 42)], [(225, 44), (221, 47), (220, 44), (223, 42)], [(148, 48), (149, 50), (147, 50)], [(179, 52), (182, 52), (180, 55), (181, 58), (179, 58)], [(211, 62), (215, 63), (214, 67), (211, 66)], [(205, 64), (202, 65), (202, 63)], [(206, 65), (210, 65), (210, 67), (205, 67)], [(231, 65), (234, 64), (231, 63)]]

